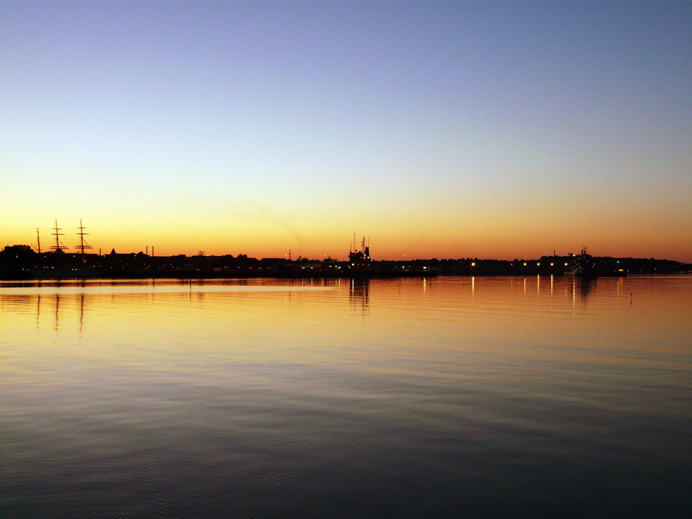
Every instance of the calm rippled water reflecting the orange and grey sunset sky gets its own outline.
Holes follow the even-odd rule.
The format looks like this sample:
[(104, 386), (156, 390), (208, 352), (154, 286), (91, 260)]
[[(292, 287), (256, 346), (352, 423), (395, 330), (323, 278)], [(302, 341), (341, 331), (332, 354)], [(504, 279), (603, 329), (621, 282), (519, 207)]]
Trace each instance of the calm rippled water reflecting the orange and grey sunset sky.
[(692, 276), (0, 284), (0, 516), (690, 517)]

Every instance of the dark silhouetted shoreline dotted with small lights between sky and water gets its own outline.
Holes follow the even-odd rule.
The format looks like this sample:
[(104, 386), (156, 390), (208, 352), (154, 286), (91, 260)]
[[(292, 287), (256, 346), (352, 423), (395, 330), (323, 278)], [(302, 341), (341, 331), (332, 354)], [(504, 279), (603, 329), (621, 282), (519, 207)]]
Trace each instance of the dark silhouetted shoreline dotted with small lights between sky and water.
[[(579, 267), (579, 268), (577, 268)], [(585, 268), (584, 268), (585, 267)], [(576, 268), (576, 270), (575, 270)], [(691, 264), (655, 258), (596, 257), (586, 255), (542, 256), (536, 260), (379, 260), (355, 254), (349, 261), (327, 258), (310, 260), (285, 257), (257, 259), (237, 256), (154, 256), (145, 253), (107, 255), (36, 253), (30, 246), (6, 246), (0, 251), (0, 280), (51, 279), (233, 279), (435, 277), (564, 275), (588, 271), (597, 277), (623, 277), (641, 273), (689, 273)]]

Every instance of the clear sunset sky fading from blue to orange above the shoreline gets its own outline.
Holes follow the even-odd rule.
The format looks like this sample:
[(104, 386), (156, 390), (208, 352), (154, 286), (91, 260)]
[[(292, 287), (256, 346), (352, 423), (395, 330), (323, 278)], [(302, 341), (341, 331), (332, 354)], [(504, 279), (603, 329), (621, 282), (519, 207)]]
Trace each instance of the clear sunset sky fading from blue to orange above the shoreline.
[(0, 1), (0, 246), (692, 262), (692, 2)]

